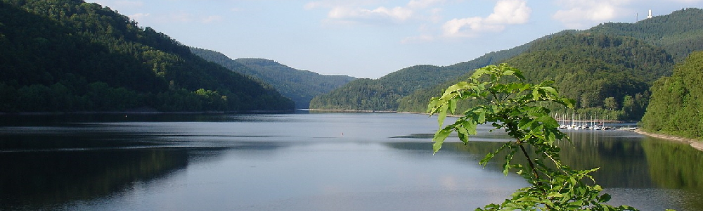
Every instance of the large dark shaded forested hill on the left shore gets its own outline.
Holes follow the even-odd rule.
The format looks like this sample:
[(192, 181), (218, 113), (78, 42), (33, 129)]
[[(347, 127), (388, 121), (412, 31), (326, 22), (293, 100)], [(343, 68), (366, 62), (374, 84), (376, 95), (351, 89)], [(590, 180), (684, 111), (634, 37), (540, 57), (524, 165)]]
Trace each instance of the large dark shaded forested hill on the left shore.
[(110, 8), (0, 0), (0, 112), (292, 108), (273, 87)]

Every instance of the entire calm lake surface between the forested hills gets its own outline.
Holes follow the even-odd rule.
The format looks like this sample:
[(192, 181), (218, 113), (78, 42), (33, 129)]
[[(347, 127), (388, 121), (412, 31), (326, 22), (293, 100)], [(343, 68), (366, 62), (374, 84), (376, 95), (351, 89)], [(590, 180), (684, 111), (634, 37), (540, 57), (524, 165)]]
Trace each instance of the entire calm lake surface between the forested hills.
[[(449, 121), (449, 120), (448, 120)], [(527, 182), (397, 113), (28, 115), (0, 122), (0, 210), (473, 210)], [(612, 205), (703, 210), (703, 153), (629, 131), (565, 131), (562, 159)], [(516, 156), (517, 157), (517, 156)]]

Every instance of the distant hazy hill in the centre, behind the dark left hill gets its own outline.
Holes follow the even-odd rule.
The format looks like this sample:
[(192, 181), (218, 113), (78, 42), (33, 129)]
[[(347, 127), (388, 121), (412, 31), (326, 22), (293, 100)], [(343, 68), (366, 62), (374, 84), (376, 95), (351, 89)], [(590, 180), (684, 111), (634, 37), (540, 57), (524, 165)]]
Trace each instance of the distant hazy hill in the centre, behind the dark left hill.
[(295, 108), (309, 108), (310, 100), (314, 96), (328, 93), (356, 79), (347, 75), (320, 75), (307, 70), (297, 70), (268, 59), (232, 60), (217, 51), (197, 48), (191, 48), (191, 51), (205, 60), (271, 84), (280, 94), (295, 101)]

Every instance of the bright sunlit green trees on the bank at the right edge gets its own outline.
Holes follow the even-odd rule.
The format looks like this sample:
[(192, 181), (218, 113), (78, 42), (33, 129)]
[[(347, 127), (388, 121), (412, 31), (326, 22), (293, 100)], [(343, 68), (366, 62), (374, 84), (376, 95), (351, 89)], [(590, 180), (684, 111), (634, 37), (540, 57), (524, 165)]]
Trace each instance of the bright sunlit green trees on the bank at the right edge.
[(652, 86), (642, 127), (647, 132), (703, 139), (703, 51), (676, 64), (671, 77)]

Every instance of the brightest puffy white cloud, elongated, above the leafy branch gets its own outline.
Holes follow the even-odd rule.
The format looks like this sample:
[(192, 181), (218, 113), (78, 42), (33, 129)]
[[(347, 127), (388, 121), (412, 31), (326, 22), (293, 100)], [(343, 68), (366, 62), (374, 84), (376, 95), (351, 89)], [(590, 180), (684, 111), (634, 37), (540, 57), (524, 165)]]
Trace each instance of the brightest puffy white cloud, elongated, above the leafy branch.
[(480, 32), (501, 32), (505, 25), (527, 23), (532, 12), (524, 0), (501, 0), (487, 18), (454, 18), (442, 25), (445, 37), (475, 37)]

